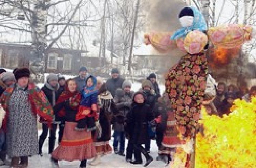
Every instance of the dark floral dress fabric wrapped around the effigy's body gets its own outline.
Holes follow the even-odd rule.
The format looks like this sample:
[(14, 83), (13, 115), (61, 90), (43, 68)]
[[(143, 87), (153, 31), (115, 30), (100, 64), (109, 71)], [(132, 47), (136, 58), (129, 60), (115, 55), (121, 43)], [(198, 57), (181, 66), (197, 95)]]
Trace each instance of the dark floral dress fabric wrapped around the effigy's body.
[(179, 131), (185, 137), (194, 137), (199, 129), (207, 70), (204, 53), (186, 54), (170, 69), (166, 78), (166, 91)]

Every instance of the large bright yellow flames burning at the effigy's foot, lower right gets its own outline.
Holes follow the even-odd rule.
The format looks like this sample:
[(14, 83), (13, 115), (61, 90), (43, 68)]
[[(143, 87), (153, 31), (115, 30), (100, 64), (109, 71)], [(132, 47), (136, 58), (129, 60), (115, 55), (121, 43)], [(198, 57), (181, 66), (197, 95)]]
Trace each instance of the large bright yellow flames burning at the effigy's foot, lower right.
[[(207, 115), (203, 108), (204, 136), (197, 134), (195, 168), (256, 167), (256, 98), (251, 103), (235, 100), (231, 109), (232, 113), (220, 118)], [(171, 167), (181, 168), (184, 163), (180, 148)]]

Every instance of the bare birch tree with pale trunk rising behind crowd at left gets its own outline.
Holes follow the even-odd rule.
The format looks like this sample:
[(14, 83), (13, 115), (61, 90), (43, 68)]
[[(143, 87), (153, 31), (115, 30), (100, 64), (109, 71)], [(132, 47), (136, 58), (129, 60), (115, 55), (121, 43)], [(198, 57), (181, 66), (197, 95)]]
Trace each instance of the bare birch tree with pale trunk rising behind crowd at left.
[(0, 28), (8, 34), (14, 32), (24, 36), (27, 33), (28, 38), (18, 42), (31, 44), (32, 70), (35, 73), (44, 72), (44, 54), (53, 45), (57, 45), (67, 29), (77, 25), (87, 26), (85, 21), (74, 20), (75, 14), (83, 5), (83, 0), (1, 0)]

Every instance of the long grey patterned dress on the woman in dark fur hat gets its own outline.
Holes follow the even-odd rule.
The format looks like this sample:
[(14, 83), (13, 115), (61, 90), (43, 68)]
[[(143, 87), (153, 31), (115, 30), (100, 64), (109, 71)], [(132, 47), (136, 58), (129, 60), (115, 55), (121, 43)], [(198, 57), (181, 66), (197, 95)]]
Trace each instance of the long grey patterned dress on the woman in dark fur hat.
[(29, 91), (16, 87), (9, 99), (7, 154), (9, 157), (37, 155), (37, 118), (28, 99)]

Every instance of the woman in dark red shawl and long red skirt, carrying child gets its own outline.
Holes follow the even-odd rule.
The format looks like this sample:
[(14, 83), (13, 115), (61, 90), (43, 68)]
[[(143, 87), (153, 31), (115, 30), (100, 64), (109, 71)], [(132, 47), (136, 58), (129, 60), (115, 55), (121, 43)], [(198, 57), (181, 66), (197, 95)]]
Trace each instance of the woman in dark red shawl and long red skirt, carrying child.
[(76, 131), (76, 114), (81, 101), (81, 95), (77, 91), (77, 84), (73, 79), (66, 83), (66, 90), (60, 95), (54, 112), (65, 119), (65, 128), (60, 145), (53, 151), (51, 163), (58, 168), (58, 161), (81, 161), (80, 168), (86, 167), (87, 159), (96, 156), (95, 146), (91, 132)]

